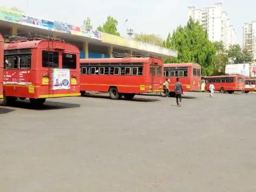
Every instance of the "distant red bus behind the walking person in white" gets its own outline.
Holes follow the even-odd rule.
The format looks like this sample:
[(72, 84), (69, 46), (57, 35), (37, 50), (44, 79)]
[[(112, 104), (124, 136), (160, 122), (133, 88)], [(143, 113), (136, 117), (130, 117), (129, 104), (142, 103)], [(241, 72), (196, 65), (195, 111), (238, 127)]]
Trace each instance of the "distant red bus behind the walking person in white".
[(244, 76), (241, 75), (202, 77), (202, 91), (210, 91), (210, 83), (221, 93), (244, 91)]

